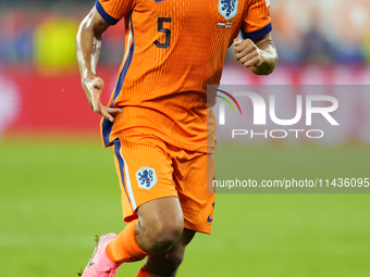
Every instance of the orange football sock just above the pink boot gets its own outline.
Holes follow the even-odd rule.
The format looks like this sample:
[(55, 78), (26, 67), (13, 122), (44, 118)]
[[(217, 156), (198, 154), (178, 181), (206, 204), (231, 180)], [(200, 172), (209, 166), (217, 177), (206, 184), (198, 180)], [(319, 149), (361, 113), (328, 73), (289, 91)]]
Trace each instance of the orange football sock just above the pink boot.
[(137, 222), (138, 219), (135, 219), (127, 224), (123, 231), (109, 243), (107, 255), (112, 262), (118, 264), (136, 262), (148, 255), (148, 253), (139, 248), (135, 239), (135, 225)]

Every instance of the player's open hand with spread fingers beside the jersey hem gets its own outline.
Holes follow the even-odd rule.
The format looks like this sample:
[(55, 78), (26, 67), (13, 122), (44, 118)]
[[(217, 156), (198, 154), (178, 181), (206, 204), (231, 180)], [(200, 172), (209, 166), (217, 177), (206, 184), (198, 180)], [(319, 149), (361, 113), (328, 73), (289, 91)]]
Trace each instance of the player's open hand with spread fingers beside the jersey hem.
[(114, 115), (121, 113), (121, 109), (107, 108), (100, 102), (100, 95), (104, 88), (104, 81), (99, 77), (83, 78), (83, 88), (85, 90), (86, 98), (94, 112), (101, 114), (108, 121), (114, 122)]

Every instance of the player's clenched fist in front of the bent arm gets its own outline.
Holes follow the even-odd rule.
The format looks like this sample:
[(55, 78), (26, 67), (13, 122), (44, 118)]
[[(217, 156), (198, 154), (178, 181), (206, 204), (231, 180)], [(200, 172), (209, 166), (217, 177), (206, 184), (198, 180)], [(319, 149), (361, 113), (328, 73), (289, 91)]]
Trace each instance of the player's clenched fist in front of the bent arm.
[(264, 62), (263, 51), (260, 50), (250, 39), (234, 39), (235, 59), (244, 64), (244, 66), (259, 67)]

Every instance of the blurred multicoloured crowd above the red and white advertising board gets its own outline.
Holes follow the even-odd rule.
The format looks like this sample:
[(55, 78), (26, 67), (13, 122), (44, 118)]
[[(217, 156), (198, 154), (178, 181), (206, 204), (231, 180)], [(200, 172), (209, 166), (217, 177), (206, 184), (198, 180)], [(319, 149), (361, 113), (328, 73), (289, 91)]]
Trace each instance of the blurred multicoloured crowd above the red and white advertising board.
[[(92, 5), (94, 0), (0, 0), (0, 67), (75, 65), (75, 34)], [(369, 0), (272, 0), (271, 17), (280, 62), (370, 62)], [(101, 63), (120, 63), (123, 35), (123, 24), (110, 28)]]

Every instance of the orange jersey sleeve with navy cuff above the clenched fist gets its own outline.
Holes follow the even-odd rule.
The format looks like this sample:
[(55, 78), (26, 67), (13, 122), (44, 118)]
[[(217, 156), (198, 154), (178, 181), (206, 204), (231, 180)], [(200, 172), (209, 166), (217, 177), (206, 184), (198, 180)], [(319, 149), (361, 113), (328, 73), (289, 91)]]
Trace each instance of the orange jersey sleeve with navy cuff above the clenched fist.
[(249, 0), (244, 13), (242, 37), (255, 40), (271, 30), (270, 0)]

